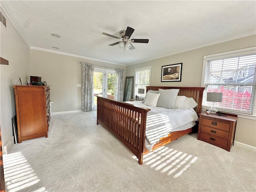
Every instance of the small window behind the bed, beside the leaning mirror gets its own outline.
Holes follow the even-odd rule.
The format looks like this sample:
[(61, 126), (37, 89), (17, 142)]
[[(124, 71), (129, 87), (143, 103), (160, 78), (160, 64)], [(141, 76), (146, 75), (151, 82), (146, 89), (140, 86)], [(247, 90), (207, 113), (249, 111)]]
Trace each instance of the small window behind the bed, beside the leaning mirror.
[[(138, 89), (145, 89), (142, 97), (146, 95), (146, 86), (150, 85), (151, 66), (135, 69), (135, 95), (138, 95)], [(140, 96), (140, 94), (138, 95)]]

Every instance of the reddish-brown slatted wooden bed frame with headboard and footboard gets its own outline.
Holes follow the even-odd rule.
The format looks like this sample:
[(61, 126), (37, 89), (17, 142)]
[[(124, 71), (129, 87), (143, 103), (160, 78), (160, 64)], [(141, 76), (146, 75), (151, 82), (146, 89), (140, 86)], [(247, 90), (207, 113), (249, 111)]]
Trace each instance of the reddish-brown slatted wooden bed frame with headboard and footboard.
[[(148, 90), (158, 89), (180, 89), (178, 95), (194, 98), (198, 103), (198, 106), (194, 110), (197, 114), (201, 112), (204, 87), (147, 86), (146, 92)], [(138, 158), (139, 164), (143, 163), (143, 155), (149, 152), (144, 147), (148, 111), (150, 111), (148, 108), (97, 96), (97, 125), (101, 124), (119, 138)], [(152, 150), (166, 145), (190, 132), (192, 132), (192, 128), (172, 132), (167, 137), (161, 138)]]

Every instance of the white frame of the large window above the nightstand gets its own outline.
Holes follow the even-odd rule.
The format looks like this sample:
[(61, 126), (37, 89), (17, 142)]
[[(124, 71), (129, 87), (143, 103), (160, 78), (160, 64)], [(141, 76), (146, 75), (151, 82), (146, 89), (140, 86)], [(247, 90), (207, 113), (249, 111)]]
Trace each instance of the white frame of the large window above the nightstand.
[[(247, 55), (247, 54), (256, 54), (256, 47), (254, 46), (254, 47), (250, 47), (250, 48), (244, 48), (244, 49), (240, 49), (240, 50), (234, 50), (234, 51), (222, 52), (222, 53), (218, 53), (218, 54), (204, 56), (201, 86), (207, 88), (207, 85), (204, 84), (204, 81), (205, 81), (205, 77), (207, 75), (206, 74), (206, 65), (207, 65), (208, 60), (223, 59), (223, 58), (242, 56), (242, 55)], [(255, 81), (255, 79), (254, 79), (254, 81)], [(206, 91), (206, 89), (205, 89), (205, 91)], [(206, 96), (206, 94), (204, 94), (204, 96)], [(209, 107), (210, 106), (202, 106), (202, 109), (205, 110), (205, 109), (208, 109)], [(232, 114), (237, 114), (238, 117), (256, 120), (256, 91), (254, 93), (252, 114), (243, 114), (243, 113), (239, 113), (239, 112), (229, 111), (228, 109), (222, 110), (222, 111), (232, 113)]]

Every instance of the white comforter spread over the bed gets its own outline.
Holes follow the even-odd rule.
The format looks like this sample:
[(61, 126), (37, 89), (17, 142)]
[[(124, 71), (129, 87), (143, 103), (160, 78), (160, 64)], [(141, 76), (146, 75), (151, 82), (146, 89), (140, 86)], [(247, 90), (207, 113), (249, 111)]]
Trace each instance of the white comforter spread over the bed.
[(141, 101), (127, 102), (136, 106), (149, 108), (146, 123), (146, 147), (152, 150), (160, 138), (168, 136), (168, 133), (186, 130), (198, 121), (198, 115), (194, 109), (166, 109), (163, 107), (150, 107)]

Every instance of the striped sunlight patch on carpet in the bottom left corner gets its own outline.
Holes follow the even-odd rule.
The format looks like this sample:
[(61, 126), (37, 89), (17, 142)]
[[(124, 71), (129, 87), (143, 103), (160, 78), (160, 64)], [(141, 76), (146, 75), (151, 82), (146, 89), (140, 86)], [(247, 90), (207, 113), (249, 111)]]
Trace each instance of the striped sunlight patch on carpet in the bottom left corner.
[[(4, 179), (8, 192), (17, 192), (40, 181), (21, 152), (3, 155), (3, 162)], [(35, 191), (46, 192), (46, 189), (40, 188)]]

